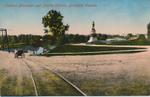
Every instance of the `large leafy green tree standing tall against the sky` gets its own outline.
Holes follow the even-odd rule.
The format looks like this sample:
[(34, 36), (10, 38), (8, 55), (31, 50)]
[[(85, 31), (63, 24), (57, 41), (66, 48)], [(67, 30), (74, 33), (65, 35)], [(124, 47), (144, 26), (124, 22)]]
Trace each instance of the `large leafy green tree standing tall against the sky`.
[(63, 44), (65, 32), (68, 31), (69, 25), (64, 25), (63, 16), (56, 10), (50, 10), (43, 18), (42, 23), (45, 27), (44, 33), (51, 33), (56, 45)]

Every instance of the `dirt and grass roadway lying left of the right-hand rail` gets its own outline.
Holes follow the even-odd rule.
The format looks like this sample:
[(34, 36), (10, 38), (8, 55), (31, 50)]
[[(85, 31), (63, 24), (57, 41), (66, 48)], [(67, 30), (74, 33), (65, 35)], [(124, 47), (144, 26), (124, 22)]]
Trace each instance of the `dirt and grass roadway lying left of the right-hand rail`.
[(0, 55), (0, 78), (4, 79), (0, 80), (2, 96), (86, 95), (61, 74), (32, 61), (29, 56), (14, 58), (14, 54), (8, 52)]

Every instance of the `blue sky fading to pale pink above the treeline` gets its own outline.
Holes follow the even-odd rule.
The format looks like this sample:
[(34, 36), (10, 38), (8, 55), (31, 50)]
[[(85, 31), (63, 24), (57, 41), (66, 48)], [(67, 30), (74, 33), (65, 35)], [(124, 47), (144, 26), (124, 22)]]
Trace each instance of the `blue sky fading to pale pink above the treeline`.
[(150, 0), (0, 0), (0, 28), (8, 34), (44, 35), (42, 17), (54, 9), (69, 24), (69, 34), (146, 34)]

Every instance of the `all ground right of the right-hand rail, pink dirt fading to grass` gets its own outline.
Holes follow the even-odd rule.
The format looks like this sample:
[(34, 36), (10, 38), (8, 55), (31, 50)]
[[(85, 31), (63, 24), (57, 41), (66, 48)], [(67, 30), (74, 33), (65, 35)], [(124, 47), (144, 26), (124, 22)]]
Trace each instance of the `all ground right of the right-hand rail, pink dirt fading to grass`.
[[(143, 47), (146, 47), (148, 50), (146, 52), (132, 54), (52, 57), (28, 56), (27, 58), (43, 63), (43, 65), (47, 65), (52, 70), (61, 73), (88, 95), (109, 95), (106, 91), (111, 88), (110, 95), (113, 95), (116, 91), (120, 93), (118, 95), (121, 95), (123, 94), (123, 90), (116, 90), (114, 92), (113, 90), (115, 89), (113, 88), (119, 87), (119, 89), (122, 89), (122, 87), (130, 87), (132, 83), (133, 86), (130, 88), (132, 89), (134, 87), (133, 90), (126, 89), (132, 92), (127, 92), (126, 94), (138, 95), (136, 91), (142, 91), (142, 93), (139, 92), (139, 95), (144, 95), (149, 91), (145, 89), (149, 87), (150, 83), (150, 68), (148, 68), (150, 64), (150, 47)], [(121, 86), (122, 84), (126, 86)], [(141, 86), (138, 86), (139, 84)], [(142, 90), (136, 90), (135, 87), (137, 86)], [(101, 94), (103, 91), (100, 90), (101, 87), (105, 89), (105, 94)]]

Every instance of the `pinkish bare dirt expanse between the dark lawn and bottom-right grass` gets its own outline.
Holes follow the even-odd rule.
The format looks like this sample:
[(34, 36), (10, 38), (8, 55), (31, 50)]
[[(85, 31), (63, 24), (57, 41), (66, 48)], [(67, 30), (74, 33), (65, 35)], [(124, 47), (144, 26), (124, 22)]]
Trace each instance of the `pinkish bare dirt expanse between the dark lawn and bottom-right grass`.
[[(29, 56), (29, 59), (47, 64), (51, 69), (59, 72), (79, 73), (79, 76), (91, 78), (102, 77), (104, 74), (127, 72), (129, 76), (150, 76), (150, 49), (147, 52), (133, 54), (112, 54), (94, 56), (53, 56), (36, 57)], [(67, 75), (66, 75), (67, 76)]]

